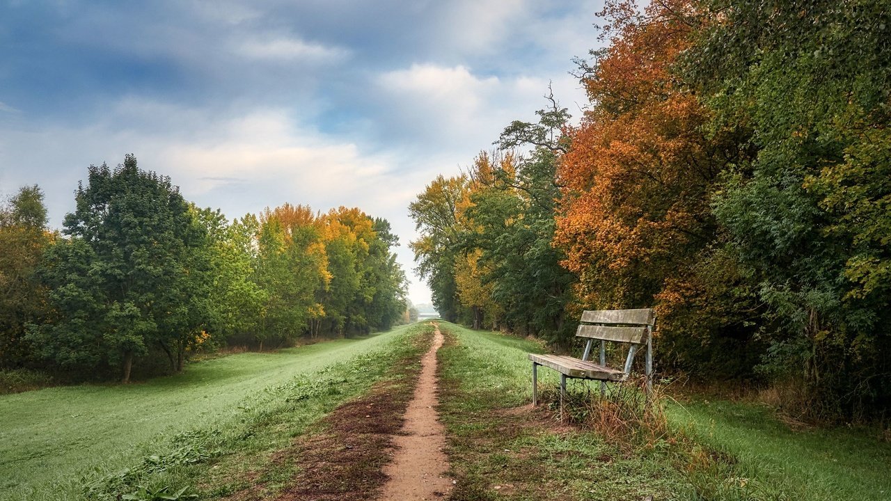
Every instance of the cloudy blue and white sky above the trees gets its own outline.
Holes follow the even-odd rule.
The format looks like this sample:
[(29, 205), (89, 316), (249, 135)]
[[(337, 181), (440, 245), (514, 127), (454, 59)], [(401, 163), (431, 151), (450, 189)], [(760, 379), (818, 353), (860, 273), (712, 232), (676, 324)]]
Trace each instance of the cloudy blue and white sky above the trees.
[(458, 175), (551, 85), (576, 118), (574, 57), (602, 0), (0, 0), (0, 197), (134, 153), (229, 218), (284, 202), (387, 218), (414, 303), (408, 204)]

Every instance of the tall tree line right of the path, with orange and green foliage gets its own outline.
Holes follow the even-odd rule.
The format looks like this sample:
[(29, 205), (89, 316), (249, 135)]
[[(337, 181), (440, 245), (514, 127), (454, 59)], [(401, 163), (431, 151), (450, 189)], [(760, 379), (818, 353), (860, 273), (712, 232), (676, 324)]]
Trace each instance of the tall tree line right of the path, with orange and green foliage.
[(655, 307), (657, 363), (822, 419), (891, 402), (891, 12), (874, 0), (609, 1), (550, 96), (411, 206), (447, 318), (567, 347)]

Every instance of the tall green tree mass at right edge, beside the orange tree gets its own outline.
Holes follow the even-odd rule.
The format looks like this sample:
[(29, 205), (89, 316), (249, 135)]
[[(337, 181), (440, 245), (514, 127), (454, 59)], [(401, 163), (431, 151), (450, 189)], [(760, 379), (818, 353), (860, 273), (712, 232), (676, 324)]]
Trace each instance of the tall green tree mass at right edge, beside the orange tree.
[(891, 339), (887, 4), (702, 2), (683, 76), (756, 155), (715, 197), (772, 322), (765, 369), (815, 415), (884, 409)]

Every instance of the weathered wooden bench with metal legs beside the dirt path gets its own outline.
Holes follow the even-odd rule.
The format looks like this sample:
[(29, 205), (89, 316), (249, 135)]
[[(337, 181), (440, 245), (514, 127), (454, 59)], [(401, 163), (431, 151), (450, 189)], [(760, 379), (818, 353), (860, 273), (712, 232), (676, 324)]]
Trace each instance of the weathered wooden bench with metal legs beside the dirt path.
[[(653, 325), (656, 316), (650, 308), (643, 309), (604, 309), (584, 311), (582, 324), (576, 330), (576, 337), (586, 338), (584, 353), (581, 358), (564, 355), (529, 354), (532, 360), (532, 405), (538, 405), (538, 365), (551, 367), (560, 373), (560, 410), (563, 408), (563, 396), (566, 394), (566, 379), (591, 379), (601, 382), (601, 393), (606, 382), (623, 382), (628, 379), (634, 355), (642, 346), (646, 346), (647, 360), (644, 372), (647, 376), (647, 392), (652, 390), (653, 373)], [(600, 364), (589, 360), (595, 340), (601, 341)], [(607, 341), (628, 345), (628, 355), (622, 369), (606, 365)]]

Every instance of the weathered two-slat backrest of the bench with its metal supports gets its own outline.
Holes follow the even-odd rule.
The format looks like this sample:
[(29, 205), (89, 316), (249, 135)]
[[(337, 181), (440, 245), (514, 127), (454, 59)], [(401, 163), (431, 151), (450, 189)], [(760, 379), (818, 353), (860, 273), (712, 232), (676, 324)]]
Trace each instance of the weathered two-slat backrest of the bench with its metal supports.
[(579, 325), (576, 330), (577, 337), (588, 339), (584, 346), (582, 360), (588, 359), (594, 340), (601, 341), (601, 365), (606, 363), (606, 341), (628, 343), (631, 346), (628, 349), (628, 356), (625, 357), (625, 367), (623, 368), (623, 372), (628, 374), (631, 371), (637, 347), (646, 345), (645, 372), (648, 378), (647, 388), (650, 388), (653, 360), (652, 335), (653, 324), (656, 322), (652, 308), (585, 310), (582, 313), (582, 322), (584, 324)]

